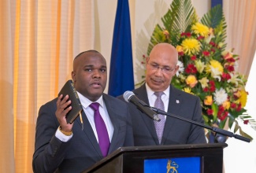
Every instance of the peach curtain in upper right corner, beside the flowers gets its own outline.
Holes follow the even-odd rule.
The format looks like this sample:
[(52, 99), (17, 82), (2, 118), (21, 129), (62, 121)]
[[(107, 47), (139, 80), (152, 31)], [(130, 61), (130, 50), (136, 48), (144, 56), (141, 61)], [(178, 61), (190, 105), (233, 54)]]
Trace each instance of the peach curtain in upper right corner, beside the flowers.
[(227, 48), (239, 55), (238, 71), (249, 75), (256, 50), (256, 1), (224, 0), (224, 15), (228, 25)]

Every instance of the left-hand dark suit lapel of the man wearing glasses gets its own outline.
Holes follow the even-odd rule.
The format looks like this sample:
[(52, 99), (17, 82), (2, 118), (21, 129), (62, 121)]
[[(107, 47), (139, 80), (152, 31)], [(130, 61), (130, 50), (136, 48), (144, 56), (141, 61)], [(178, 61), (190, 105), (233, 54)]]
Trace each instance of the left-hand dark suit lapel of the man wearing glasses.
[[(137, 90), (134, 90), (134, 94), (136, 95), (137, 98), (147, 103), (147, 105), (150, 105), (150, 102), (148, 101), (147, 98), (147, 90), (145, 84), (143, 84), (143, 86), (139, 87)], [(148, 131), (150, 131), (150, 134), (154, 138), (154, 142), (158, 144), (158, 136), (157, 132), (155, 131), (154, 120), (149, 119), (147, 115), (145, 115), (143, 112), (140, 113), (140, 115), (142, 116), (142, 119), (146, 124)]]

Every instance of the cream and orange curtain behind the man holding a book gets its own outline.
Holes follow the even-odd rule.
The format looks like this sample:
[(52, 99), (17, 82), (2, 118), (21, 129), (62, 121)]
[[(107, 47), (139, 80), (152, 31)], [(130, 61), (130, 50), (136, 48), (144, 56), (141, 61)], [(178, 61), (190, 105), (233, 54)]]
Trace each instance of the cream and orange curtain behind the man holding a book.
[(39, 107), (94, 46), (93, 0), (2, 0), (0, 13), (0, 172), (32, 172)]

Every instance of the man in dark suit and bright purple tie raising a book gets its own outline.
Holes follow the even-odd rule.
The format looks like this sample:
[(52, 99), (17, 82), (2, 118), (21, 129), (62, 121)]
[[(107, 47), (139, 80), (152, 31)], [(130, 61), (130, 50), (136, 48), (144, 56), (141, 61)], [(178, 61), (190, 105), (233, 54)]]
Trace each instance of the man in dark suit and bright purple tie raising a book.
[[(66, 122), (65, 115), (72, 109), (69, 95), (43, 105), (36, 123), (33, 171), (81, 172), (117, 148), (133, 145), (128, 106), (103, 94), (106, 79), (106, 60), (101, 53), (88, 50), (75, 57), (72, 80), (83, 105), (84, 129), (79, 119)], [(96, 114), (101, 117), (100, 126)], [(104, 130), (98, 130), (102, 127)]]

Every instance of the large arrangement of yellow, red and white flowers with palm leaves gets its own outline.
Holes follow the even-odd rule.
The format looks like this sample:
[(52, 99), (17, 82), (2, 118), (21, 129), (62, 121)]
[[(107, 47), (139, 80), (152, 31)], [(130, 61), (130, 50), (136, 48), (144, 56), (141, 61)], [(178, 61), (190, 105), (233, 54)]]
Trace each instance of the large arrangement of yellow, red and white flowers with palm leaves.
[(201, 99), (207, 125), (224, 128), (228, 124), (231, 128), (236, 123), (234, 132), (239, 129), (241, 135), (250, 138), (236, 121), (246, 112), (247, 79), (237, 72), (238, 55), (225, 49), (227, 26), (221, 6), (213, 7), (198, 20), (190, 1), (173, 0), (161, 20), (164, 26), (157, 24), (154, 28), (147, 54), (159, 42), (176, 46), (180, 69), (173, 76), (173, 86)]

